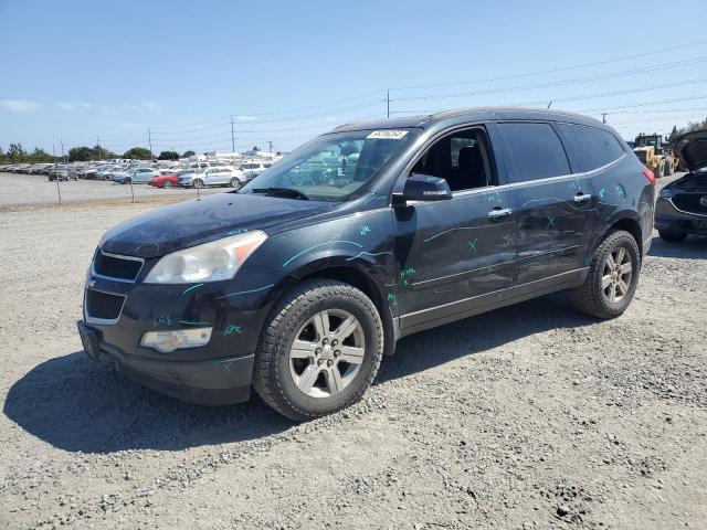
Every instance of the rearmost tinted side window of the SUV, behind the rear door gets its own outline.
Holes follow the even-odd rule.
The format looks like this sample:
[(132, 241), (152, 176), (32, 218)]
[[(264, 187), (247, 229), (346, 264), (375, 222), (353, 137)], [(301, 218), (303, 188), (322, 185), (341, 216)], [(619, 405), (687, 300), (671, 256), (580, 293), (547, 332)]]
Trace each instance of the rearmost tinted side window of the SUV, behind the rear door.
[(591, 171), (621, 158), (619, 140), (608, 130), (584, 125), (558, 124), (567, 140), (574, 172)]

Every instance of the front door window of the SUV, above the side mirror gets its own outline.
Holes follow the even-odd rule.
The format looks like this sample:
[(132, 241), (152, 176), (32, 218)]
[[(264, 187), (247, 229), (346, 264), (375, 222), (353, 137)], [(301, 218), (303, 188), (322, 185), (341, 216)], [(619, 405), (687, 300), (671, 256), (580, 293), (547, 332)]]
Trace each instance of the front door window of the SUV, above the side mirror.
[(443, 178), (454, 192), (495, 186), (486, 132), (475, 127), (439, 139), (415, 162), (410, 174)]

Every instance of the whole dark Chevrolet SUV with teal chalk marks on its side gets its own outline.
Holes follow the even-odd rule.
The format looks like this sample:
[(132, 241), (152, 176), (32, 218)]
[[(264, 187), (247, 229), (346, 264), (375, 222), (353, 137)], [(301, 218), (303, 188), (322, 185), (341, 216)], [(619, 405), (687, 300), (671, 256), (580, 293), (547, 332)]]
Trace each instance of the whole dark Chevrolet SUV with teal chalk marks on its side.
[(307, 420), (359, 400), (403, 336), (557, 290), (621, 315), (654, 184), (574, 114), (349, 124), (239, 191), (109, 230), (78, 328), (89, 357), (158, 391), (224, 404), (253, 385)]

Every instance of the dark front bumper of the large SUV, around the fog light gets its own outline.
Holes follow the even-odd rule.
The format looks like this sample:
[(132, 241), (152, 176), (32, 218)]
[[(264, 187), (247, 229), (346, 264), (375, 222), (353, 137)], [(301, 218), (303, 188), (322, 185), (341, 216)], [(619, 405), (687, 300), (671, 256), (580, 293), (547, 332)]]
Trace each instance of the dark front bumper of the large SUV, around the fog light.
[[(217, 405), (247, 400), (254, 352), (272, 304), (267, 272), (230, 282), (145, 284), (151, 266), (148, 259), (135, 283), (101, 276), (92, 267), (78, 322), (88, 357), (108, 358), (131, 379), (182, 401)], [(91, 292), (124, 298), (116, 318), (92, 312)], [(171, 352), (140, 346), (148, 331), (196, 327), (212, 329), (205, 346)]]

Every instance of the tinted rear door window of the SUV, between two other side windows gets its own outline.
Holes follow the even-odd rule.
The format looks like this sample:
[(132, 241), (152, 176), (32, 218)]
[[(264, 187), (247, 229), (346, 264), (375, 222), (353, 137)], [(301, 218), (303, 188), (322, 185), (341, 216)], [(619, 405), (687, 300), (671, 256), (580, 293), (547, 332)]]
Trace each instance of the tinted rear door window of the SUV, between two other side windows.
[(498, 124), (515, 169), (511, 182), (570, 173), (562, 144), (549, 124)]

